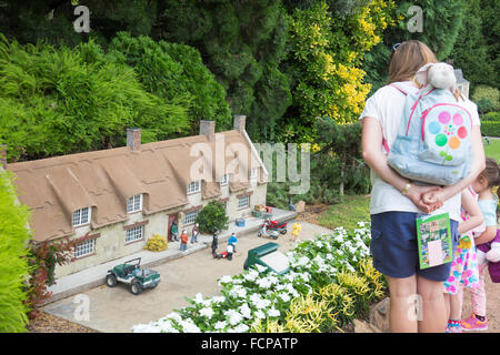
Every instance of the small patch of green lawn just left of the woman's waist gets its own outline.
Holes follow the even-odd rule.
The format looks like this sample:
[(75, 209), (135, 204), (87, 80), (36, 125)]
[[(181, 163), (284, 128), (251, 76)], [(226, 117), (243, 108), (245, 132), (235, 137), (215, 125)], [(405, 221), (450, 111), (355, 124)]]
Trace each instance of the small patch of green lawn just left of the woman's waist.
[(364, 195), (347, 195), (342, 203), (333, 204), (324, 211), (318, 222), (329, 229), (357, 229), (358, 222), (370, 222), (370, 199)]

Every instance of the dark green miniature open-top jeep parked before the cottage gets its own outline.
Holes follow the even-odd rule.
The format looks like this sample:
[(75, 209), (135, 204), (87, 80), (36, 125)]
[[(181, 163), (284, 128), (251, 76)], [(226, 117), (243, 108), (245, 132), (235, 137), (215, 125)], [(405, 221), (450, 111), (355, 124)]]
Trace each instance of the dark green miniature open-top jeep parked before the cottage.
[(160, 274), (151, 268), (142, 268), (141, 258), (132, 258), (123, 264), (108, 270), (106, 275), (106, 284), (114, 287), (118, 282), (130, 285), (130, 292), (139, 295), (144, 288), (154, 288), (160, 282)]

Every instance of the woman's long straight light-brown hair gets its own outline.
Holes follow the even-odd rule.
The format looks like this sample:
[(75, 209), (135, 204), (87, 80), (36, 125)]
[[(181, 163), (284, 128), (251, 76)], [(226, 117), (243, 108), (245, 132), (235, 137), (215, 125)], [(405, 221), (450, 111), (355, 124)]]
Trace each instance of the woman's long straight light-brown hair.
[[(394, 44), (390, 57), (389, 78), (387, 83), (390, 84), (397, 81), (412, 80), (419, 88), (421, 85), (414, 79), (417, 71), (427, 63), (437, 63), (438, 59), (432, 50), (427, 44), (417, 41), (406, 41)], [(458, 89), (454, 90), (454, 98), (463, 97)]]

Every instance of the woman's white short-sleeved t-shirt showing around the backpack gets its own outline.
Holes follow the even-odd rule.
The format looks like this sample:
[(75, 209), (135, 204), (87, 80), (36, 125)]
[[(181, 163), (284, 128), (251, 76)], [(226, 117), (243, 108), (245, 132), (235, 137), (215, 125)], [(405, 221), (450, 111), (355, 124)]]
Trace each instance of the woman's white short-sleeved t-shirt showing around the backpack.
[[(394, 83), (399, 88), (407, 91), (414, 91), (414, 83), (412, 81), (403, 81)], [(360, 115), (360, 120), (363, 118), (373, 118), (380, 121), (382, 125), (382, 134), (386, 139), (389, 149), (392, 146), (397, 135), (399, 123), (402, 118), (406, 95), (396, 88), (386, 85), (377, 90), (377, 92), (370, 97), (366, 104), (364, 110)], [(479, 125), (479, 114), (476, 103), (466, 99), (466, 102), (461, 102), (464, 108), (472, 115), (472, 124)], [(386, 154), (383, 148), (380, 148)], [(384, 182), (373, 170), (370, 172), (370, 179), (372, 184), (371, 200), (370, 200), (370, 214), (377, 214), (389, 211), (400, 212), (416, 212), (420, 211), (410, 199), (402, 195), (399, 190)], [(460, 193), (447, 200), (442, 207), (434, 211), (432, 214), (449, 213), (450, 219), (454, 221), (461, 221), (460, 219)]]

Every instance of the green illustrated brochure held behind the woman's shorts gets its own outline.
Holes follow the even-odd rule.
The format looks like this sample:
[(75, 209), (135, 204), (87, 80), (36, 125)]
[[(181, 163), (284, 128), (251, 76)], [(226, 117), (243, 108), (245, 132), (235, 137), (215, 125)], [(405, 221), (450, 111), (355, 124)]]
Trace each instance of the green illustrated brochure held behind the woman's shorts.
[(450, 216), (448, 213), (417, 219), (420, 268), (428, 268), (453, 260)]

